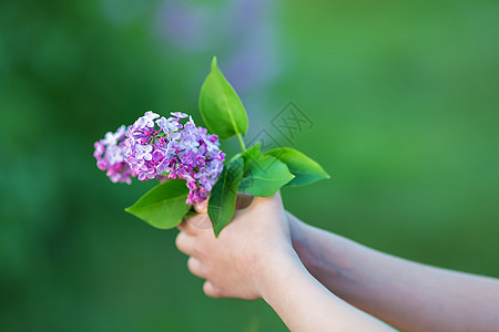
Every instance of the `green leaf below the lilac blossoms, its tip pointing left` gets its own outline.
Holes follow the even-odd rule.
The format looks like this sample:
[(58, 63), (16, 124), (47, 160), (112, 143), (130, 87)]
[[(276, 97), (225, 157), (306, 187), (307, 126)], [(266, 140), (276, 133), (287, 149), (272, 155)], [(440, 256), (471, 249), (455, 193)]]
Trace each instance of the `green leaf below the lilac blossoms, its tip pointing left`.
[(171, 179), (149, 190), (134, 205), (125, 208), (125, 211), (156, 228), (173, 228), (189, 210), (185, 204), (187, 194), (185, 180)]

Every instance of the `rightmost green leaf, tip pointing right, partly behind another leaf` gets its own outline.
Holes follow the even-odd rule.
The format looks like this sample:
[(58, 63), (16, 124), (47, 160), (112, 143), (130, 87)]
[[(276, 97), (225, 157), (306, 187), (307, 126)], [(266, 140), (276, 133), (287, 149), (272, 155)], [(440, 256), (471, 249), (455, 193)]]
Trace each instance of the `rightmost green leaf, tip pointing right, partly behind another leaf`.
[(319, 164), (294, 148), (279, 147), (265, 153), (265, 155), (273, 156), (287, 165), (289, 172), (295, 176), (287, 184), (288, 186), (303, 186), (330, 178)]

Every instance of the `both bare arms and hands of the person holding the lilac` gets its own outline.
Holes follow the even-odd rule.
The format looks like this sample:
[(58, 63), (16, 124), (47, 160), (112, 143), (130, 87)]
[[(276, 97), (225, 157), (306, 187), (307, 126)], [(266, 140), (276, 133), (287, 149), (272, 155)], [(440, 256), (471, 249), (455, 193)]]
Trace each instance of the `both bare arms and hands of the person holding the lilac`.
[(206, 204), (196, 210), (176, 245), (206, 280), (204, 292), (263, 298), (292, 331), (391, 331), (381, 320), (404, 331), (499, 331), (496, 279), (418, 264), (314, 228), (286, 212), (278, 194), (237, 210), (217, 239)]

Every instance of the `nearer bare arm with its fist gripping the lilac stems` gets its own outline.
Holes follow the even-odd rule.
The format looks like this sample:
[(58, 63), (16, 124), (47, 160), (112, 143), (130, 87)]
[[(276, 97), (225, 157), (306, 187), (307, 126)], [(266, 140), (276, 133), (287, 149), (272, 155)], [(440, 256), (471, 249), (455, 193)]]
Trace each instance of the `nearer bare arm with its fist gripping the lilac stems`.
[(390, 331), (330, 293), (293, 250), (281, 197), (255, 198), (215, 239), (206, 207), (181, 226), (177, 248), (213, 298), (263, 298), (292, 331)]

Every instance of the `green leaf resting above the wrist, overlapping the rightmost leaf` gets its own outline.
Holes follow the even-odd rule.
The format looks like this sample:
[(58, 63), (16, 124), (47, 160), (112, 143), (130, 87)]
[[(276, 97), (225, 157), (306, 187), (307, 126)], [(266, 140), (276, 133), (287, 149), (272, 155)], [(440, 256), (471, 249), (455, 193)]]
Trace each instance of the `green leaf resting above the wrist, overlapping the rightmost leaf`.
[(240, 191), (258, 197), (269, 197), (294, 178), (287, 166), (272, 156), (252, 159), (245, 167)]

